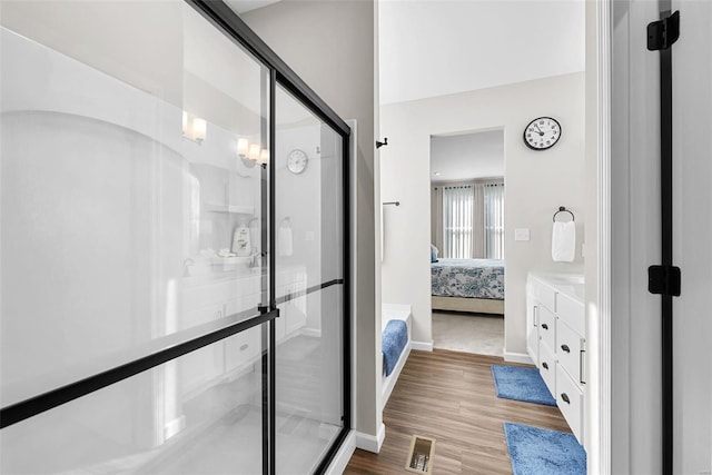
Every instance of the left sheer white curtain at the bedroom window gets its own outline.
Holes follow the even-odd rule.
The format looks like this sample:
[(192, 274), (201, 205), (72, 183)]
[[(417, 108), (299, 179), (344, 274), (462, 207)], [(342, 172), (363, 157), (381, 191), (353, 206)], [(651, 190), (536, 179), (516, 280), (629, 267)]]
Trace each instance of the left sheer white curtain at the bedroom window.
[(474, 201), (472, 185), (443, 187), (443, 257), (472, 258)]

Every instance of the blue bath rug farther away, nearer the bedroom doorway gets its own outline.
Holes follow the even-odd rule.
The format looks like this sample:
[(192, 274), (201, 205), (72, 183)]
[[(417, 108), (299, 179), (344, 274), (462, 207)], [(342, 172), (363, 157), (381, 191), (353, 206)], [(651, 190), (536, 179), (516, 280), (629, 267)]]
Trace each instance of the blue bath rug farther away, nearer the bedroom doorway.
[(556, 399), (536, 368), (492, 365), (497, 397), (555, 406)]

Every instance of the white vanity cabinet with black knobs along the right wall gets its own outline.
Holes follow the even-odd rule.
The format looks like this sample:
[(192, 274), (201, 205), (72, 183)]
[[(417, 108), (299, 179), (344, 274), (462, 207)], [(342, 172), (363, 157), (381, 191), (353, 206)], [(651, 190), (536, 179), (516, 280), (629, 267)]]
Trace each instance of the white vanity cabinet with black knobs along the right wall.
[(526, 348), (572, 432), (583, 444), (585, 410), (584, 280), (577, 274), (530, 273)]

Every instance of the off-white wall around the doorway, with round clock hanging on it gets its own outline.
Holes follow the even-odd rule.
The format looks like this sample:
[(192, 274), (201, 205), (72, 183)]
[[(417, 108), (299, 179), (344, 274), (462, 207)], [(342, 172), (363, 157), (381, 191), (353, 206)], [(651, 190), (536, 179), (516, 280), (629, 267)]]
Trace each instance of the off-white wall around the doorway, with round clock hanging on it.
[[(525, 281), (528, 270), (583, 271), (584, 75), (573, 73), (453, 96), (384, 106), (382, 195), (400, 206), (385, 212), (383, 300), (413, 305), (414, 340), (432, 342), (429, 141), (433, 135), (504, 128), (505, 160), (505, 350), (526, 354)], [(530, 150), (522, 132), (540, 116), (557, 118), (560, 142)], [(552, 215), (558, 206), (576, 215), (574, 263), (551, 259)], [(530, 228), (530, 241), (514, 241), (514, 228)]]

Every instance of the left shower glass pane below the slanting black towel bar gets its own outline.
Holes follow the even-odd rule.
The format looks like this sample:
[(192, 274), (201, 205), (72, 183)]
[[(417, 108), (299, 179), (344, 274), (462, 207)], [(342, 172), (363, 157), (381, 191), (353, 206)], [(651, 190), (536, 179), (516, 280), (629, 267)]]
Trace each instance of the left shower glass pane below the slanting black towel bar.
[(0, 472), (261, 474), (260, 333), (211, 345), (245, 349), (239, 370), (199, 392), (176, 384), (200, 364), (189, 353), (2, 429)]

